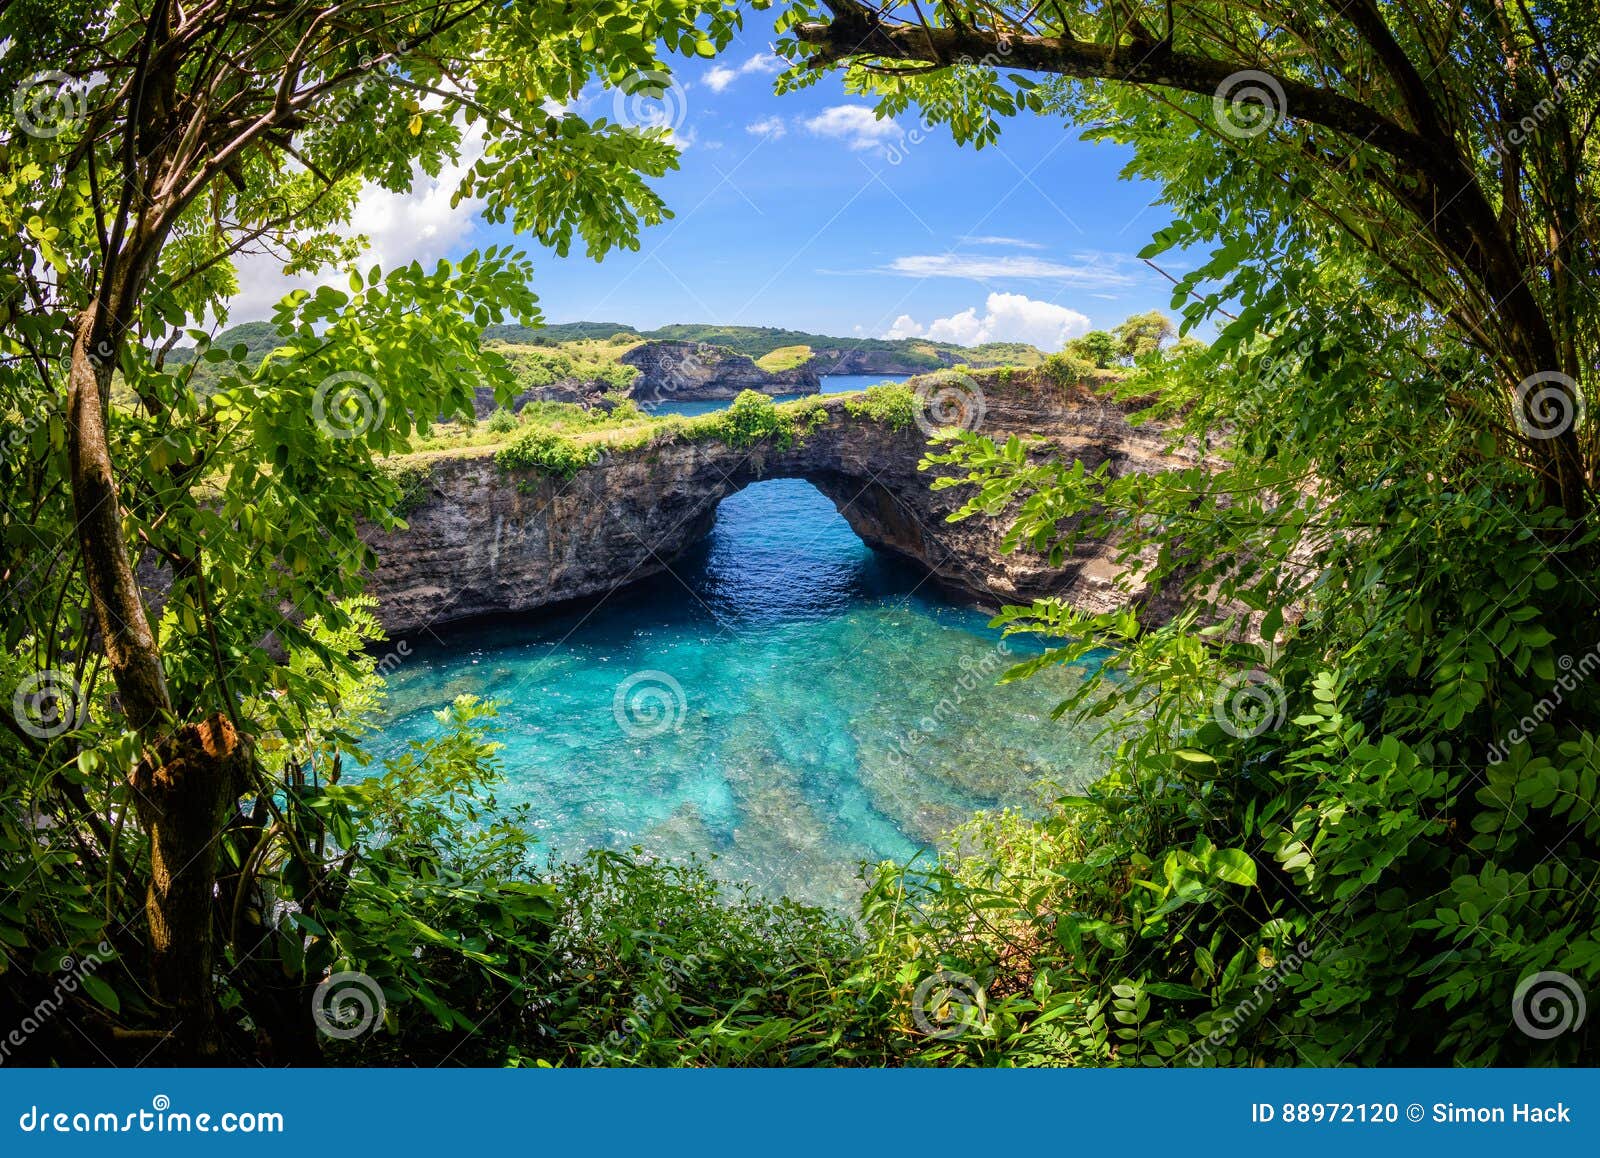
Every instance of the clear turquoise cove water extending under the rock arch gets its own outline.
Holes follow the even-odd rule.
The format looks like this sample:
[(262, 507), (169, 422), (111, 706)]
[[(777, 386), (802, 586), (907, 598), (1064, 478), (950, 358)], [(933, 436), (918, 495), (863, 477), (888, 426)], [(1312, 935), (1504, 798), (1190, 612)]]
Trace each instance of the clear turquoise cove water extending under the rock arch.
[(909, 859), (978, 809), (1037, 809), (1093, 753), (1050, 718), (1082, 673), (866, 547), (802, 480), (723, 501), (669, 574), (555, 614), (458, 629), (389, 675), (370, 749), (496, 699), (502, 803), (547, 851), (691, 853), (730, 881), (850, 908), (861, 862)]

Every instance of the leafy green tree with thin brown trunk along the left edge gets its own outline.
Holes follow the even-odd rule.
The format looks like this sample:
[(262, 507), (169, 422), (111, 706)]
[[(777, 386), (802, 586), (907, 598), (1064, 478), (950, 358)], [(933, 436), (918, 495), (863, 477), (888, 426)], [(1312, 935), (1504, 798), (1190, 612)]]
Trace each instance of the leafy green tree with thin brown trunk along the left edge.
[[(14, 94), (0, 409), (21, 416), (11, 445), (29, 451), (5, 464), (8, 635), (35, 667), (24, 681), (69, 688), (50, 704), (91, 705), (18, 741), (43, 768), (112, 774), (117, 798), (125, 779), (150, 840), (152, 992), (189, 1056), (218, 1048), (219, 832), (240, 797), (274, 808), (256, 741), (326, 689), (262, 643), (338, 661), (301, 624), (349, 622), (339, 597), (368, 558), (357, 520), (397, 520), (378, 457), (470, 414), (474, 381), (509, 401), (512, 376), (480, 334), (538, 320), (510, 251), (357, 270), (344, 227), (360, 190), (464, 160), (456, 197), (482, 198), (490, 221), (560, 254), (574, 238), (597, 258), (635, 246), (666, 216), (646, 181), (677, 154), (670, 128), (629, 112), (669, 93), (662, 48), (710, 56), (738, 21), (723, 0), (18, 0), (0, 16)], [(592, 80), (618, 90), (611, 120), (566, 107)], [(208, 349), (203, 328), (224, 318), (246, 253), (349, 270), (347, 293), (278, 305), (278, 349), (253, 368), (243, 347)], [(218, 371), (205, 389), (194, 365), (166, 363), (186, 336)], [(141, 568), (170, 576), (160, 619)], [(82, 776), (53, 781), (93, 829)]]

